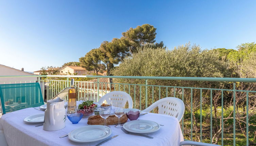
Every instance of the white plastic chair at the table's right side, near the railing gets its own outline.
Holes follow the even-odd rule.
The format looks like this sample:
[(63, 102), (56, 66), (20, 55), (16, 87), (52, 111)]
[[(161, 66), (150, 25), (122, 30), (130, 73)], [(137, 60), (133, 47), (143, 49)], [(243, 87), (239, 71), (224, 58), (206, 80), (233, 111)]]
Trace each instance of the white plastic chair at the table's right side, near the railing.
[(144, 109), (144, 112), (150, 112), (154, 108), (158, 107), (159, 114), (167, 114), (170, 116), (174, 116), (180, 122), (185, 111), (185, 105), (183, 101), (179, 98), (175, 97), (165, 97), (162, 98), (155, 103), (153, 103), (148, 108)]

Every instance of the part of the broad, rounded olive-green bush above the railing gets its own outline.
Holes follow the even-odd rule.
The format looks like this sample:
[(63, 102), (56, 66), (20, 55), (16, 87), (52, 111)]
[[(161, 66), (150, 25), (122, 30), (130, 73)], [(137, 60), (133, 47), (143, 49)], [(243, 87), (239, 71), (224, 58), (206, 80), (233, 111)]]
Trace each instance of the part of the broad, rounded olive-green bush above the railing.
[(143, 48), (113, 72), (120, 76), (226, 77), (227, 63), (218, 54), (189, 43), (174, 50)]

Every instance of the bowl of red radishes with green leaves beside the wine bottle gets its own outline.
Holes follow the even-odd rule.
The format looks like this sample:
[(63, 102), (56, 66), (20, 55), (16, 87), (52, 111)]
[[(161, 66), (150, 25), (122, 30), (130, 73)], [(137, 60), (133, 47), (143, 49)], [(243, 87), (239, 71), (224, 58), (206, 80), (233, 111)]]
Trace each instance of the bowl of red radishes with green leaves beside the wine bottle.
[(94, 113), (94, 109), (97, 107), (96, 104), (93, 104), (93, 101), (85, 101), (78, 105), (78, 113), (82, 113), (83, 117), (89, 117)]

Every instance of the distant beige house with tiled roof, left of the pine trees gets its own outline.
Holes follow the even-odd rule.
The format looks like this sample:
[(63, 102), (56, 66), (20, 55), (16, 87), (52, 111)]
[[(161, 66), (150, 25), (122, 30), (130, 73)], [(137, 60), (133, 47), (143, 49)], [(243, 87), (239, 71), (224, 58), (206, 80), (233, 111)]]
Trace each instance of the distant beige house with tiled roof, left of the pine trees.
[(77, 67), (77, 66), (65, 66), (63, 67), (59, 73), (61, 75), (68, 75), (77, 73), (76, 75), (91, 75), (93, 72), (87, 71), (85, 68)]

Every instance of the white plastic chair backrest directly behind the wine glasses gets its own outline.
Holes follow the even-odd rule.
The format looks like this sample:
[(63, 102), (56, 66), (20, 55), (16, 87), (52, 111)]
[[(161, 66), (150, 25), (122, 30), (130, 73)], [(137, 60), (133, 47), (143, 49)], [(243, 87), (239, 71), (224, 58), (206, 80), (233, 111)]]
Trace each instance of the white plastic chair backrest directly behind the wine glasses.
[(126, 102), (128, 102), (129, 108), (133, 108), (132, 97), (123, 91), (113, 91), (107, 93), (100, 98), (98, 102), (99, 105), (101, 105), (105, 100), (107, 101), (107, 104), (113, 102), (112, 105), (115, 107), (124, 107)]

